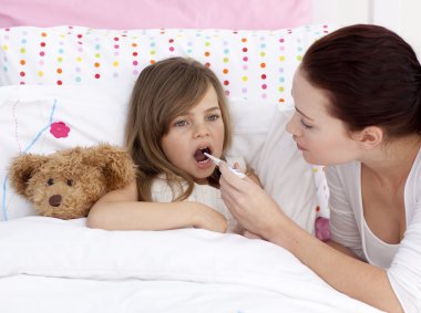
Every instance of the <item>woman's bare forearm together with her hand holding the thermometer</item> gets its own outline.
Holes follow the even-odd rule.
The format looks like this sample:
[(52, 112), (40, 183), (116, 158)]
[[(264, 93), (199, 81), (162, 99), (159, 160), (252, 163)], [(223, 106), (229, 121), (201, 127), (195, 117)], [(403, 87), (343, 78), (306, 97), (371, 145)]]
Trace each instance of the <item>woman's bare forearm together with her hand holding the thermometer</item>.
[(279, 209), (249, 179), (219, 166), (222, 197), (234, 217), (249, 231), (295, 254), (336, 290), (387, 312), (402, 312), (387, 272), (329, 247)]

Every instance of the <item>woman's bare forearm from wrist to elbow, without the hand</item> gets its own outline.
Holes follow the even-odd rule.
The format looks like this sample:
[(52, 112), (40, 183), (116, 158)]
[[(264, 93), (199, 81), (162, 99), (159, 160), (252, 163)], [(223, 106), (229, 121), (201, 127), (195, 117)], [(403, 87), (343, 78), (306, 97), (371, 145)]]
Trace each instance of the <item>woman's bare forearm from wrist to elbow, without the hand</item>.
[(325, 244), (287, 217), (279, 219), (266, 237), (289, 250), (336, 290), (387, 312), (403, 312), (387, 271), (345, 254), (339, 243), (335, 243), (336, 249)]

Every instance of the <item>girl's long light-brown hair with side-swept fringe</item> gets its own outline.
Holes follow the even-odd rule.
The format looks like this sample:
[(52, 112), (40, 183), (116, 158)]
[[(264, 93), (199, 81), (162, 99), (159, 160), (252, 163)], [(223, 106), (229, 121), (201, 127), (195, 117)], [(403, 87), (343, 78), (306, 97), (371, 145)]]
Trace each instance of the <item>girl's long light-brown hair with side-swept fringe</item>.
[[(152, 200), (151, 187), (160, 174), (165, 175), (172, 189), (174, 184), (182, 188), (182, 181), (187, 182), (187, 189), (174, 200), (184, 200), (192, 194), (193, 177), (170, 163), (161, 142), (170, 123), (198, 104), (210, 86), (217, 94), (225, 126), (224, 157), (232, 142), (232, 126), (224, 90), (214, 72), (183, 58), (166, 59), (142, 71), (133, 88), (125, 127), (125, 143), (137, 165), (138, 200)], [(218, 186), (219, 175), (215, 169), (208, 177), (209, 185)]]

